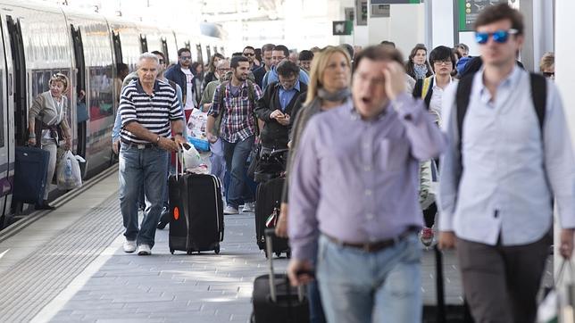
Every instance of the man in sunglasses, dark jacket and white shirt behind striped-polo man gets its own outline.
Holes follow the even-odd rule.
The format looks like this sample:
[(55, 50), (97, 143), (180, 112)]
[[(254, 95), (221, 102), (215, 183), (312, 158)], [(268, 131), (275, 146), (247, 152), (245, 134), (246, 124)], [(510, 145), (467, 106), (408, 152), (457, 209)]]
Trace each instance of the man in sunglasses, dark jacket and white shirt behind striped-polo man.
[[(179, 48), (178, 50), (178, 63), (172, 66), (170, 69), (166, 70), (165, 77), (171, 81), (176, 82), (182, 89), (182, 102), (184, 107), (184, 112), (187, 117), (194, 109), (194, 74), (190, 70), (192, 65), (192, 53), (186, 47)], [(189, 100), (188, 100), (189, 98)]]

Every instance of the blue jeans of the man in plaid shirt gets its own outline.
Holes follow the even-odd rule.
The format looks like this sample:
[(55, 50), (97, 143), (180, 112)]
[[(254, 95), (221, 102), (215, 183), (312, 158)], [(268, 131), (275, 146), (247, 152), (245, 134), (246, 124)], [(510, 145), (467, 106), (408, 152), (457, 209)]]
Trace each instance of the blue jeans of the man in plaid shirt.
[[(223, 141), (223, 154), (226, 159), (226, 167), (229, 170), (231, 178), (229, 180), (228, 188), (228, 204), (237, 209), (239, 204), (244, 200), (242, 195), (246, 188), (246, 160), (249, 153), (252, 151), (254, 145), (254, 136), (247, 137), (245, 140), (238, 141), (237, 143), (229, 143)], [(254, 198), (251, 201), (254, 202)]]

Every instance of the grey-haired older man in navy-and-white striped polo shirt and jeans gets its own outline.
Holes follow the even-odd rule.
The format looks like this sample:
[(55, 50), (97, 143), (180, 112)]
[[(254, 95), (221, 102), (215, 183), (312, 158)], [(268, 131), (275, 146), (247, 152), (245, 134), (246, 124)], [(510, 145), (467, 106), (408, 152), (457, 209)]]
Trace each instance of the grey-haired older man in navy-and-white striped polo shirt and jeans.
[[(141, 54), (137, 79), (121, 92), (120, 208), (124, 219), (124, 252), (151, 254), (155, 227), (160, 219), (169, 153), (186, 142), (183, 114), (176, 91), (156, 79), (159, 61), (151, 53)], [(176, 136), (171, 140), (171, 130)], [(138, 229), (137, 196), (146, 193), (146, 210)]]

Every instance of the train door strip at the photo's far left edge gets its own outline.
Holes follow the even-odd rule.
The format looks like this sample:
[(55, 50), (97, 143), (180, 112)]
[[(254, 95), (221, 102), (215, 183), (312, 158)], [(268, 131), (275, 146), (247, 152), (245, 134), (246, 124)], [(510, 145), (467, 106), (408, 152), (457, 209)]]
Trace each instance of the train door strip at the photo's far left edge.
[(10, 137), (10, 124), (12, 118), (12, 73), (6, 59), (6, 43), (4, 42), (4, 28), (0, 25), (0, 229), (9, 224), (7, 214), (10, 213), (10, 195), (12, 194), (13, 178), (13, 147)]

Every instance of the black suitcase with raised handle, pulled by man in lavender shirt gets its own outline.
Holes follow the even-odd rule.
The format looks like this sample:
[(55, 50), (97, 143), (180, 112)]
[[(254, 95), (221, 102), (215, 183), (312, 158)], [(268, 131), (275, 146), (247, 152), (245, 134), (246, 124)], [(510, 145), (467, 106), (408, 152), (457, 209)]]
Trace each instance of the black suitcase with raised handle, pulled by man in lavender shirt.
[(293, 287), (289, 285), (286, 274), (276, 274), (273, 272), (272, 261), (272, 236), (275, 236), (273, 229), (265, 231), (266, 252), (270, 272), (267, 275), (255, 277), (254, 294), (252, 302), (254, 311), (252, 322), (255, 323), (306, 323), (310, 319), (310, 311), (307, 298), (304, 295), (302, 286)]

